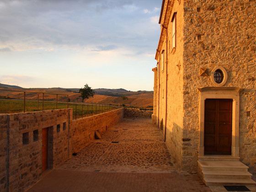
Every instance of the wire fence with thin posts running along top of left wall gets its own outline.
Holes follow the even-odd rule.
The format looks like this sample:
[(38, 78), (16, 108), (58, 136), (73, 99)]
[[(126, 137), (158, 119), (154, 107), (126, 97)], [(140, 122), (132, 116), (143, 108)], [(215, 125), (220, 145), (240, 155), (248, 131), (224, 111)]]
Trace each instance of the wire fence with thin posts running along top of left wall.
[(67, 94), (0, 89), (0, 113), (34, 112), (73, 108), (73, 119), (109, 112), (122, 107), (113, 104), (81, 103)]

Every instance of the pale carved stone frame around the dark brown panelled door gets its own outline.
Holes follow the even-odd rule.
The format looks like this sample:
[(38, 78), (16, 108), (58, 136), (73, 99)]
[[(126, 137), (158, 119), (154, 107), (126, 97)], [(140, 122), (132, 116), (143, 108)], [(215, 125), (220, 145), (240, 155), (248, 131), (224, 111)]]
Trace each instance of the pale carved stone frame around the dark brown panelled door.
[(203, 87), (200, 91), (199, 101), (199, 153), (204, 156), (204, 102), (206, 99), (231, 99), (232, 102), (232, 145), (231, 155), (239, 157), (239, 107), (240, 91), (237, 87)]

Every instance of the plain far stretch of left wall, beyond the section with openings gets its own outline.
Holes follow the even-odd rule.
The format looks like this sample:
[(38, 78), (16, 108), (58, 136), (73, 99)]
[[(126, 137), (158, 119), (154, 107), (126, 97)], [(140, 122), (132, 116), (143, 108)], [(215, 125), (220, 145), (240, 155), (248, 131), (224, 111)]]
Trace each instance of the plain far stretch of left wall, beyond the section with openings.
[(80, 118), (72, 122), (70, 140), (72, 153), (84, 148), (95, 139), (95, 131), (103, 133), (107, 128), (121, 121), (123, 109), (97, 114), (91, 117)]

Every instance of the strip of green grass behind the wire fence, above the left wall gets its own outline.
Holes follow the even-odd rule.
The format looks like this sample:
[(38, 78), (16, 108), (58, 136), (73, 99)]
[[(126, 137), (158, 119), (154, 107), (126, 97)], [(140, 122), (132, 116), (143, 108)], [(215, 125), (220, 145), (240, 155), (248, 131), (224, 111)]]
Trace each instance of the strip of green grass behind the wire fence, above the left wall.
[[(67, 108), (67, 103), (58, 102), (58, 109)], [(73, 119), (88, 117), (102, 112), (112, 111), (118, 107), (105, 104), (75, 104), (69, 103), (69, 108), (73, 108)], [(42, 110), (56, 109), (56, 102), (53, 101), (31, 101), (26, 100), (25, 112), (35, 112)], [(0, 113), (24, 112), (23, 100), (0, 99)]]

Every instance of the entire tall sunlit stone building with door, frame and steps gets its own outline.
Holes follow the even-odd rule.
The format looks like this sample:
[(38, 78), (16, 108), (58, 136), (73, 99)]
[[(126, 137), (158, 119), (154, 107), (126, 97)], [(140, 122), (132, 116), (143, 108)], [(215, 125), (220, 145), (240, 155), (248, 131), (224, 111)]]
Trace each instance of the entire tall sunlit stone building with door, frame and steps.
[(256, 1), (163, 0), (159, 24), (152, 120), (176, 165), (206, 184), (254, 183)]

